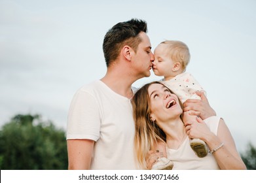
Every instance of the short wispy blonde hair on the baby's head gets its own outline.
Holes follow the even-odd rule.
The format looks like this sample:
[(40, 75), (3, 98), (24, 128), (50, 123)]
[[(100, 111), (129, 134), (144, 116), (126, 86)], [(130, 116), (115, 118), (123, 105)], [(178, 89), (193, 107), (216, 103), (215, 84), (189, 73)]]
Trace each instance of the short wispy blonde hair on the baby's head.
[(160, 44), (168, 45), (168, 54), (174, 62), (181, 63), (181, 69), (183, 72), (186, 71), (187, 65), (191, 59), (191, 54), (189, 53), (189, 47), (187, 44), (181, 41), (163, 41)]

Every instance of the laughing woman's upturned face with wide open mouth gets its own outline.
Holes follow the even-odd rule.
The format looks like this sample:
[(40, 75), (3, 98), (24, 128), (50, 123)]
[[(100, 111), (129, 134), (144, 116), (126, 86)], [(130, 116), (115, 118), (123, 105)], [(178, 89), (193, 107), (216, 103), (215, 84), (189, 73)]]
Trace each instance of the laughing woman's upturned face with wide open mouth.
[(151, 120), (156, 122), (166, 122), (175, 120), (182, 114), (182, 108), (179, 105), (177, 95), (171, 93), (168, 88), (162, 84), (151, 84), (148, 89)]

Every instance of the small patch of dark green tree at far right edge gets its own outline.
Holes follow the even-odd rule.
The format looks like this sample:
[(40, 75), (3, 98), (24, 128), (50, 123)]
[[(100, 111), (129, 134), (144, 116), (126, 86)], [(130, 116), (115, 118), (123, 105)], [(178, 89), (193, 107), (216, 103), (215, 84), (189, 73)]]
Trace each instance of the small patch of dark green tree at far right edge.
[(241, 153), (241, 158), (248, 170), (256, 170), (256, 148), (249, 142), (245, 153)]

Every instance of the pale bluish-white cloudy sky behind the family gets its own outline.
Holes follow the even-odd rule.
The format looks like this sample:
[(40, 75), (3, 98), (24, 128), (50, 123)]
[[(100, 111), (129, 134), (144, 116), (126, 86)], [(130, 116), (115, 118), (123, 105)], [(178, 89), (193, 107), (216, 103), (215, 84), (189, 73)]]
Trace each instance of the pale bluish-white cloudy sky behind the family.
[[(66, 129), (75, 92), (105, 75), (105, 33), (131, 18), (148, 24), (154, 50), (166, 39), (191, 51), (187, 72), (206, 90), (238, 151), (256, 146), (256, 1), (0, 0), (0, 125), (41, 114)], [(134, 83), (159, 80), (151, 74)]]

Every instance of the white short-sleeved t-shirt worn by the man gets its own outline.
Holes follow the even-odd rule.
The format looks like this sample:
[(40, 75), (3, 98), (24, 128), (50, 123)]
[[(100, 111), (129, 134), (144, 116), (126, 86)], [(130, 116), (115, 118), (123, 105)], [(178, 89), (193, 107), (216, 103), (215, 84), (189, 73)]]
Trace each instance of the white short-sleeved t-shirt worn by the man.
[(136, 169), (134, 135), (130, 99), (100, 80), (75, 93), (67, 119), (67, 139), (96, 141), (90, 169)]

